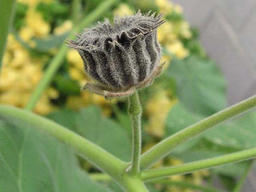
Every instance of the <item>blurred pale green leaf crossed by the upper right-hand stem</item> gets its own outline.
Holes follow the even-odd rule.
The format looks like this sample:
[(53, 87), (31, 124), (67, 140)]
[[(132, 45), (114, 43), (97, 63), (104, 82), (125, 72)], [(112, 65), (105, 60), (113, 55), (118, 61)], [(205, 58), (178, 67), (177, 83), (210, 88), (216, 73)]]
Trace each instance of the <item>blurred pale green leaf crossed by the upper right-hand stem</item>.
[[(167, 116), (167, 133), (169, 135), (174, 134), (202, 119), (204, 119), (204, 116), (192, 114), (181, 103), (178, 103), (170, 110)], [(255, 132), (256, 112), (249, 112), (236, 120), (221, 123), (211, 128), (197, 137), (197, 139), (205, 138), (218, 145), (242, 150), (256, 146)]]

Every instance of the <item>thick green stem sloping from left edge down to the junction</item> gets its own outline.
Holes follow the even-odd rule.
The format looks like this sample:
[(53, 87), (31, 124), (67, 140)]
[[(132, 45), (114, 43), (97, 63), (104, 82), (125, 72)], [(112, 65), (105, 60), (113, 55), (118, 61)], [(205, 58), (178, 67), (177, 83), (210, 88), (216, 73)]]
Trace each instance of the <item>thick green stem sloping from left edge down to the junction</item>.
[(10, 121), (25, 122), (27, 125), (62, 141), (117, 181), (120, 179), (120, 172), (123, 172), (127, 166), (126, 163), (101, 147), (45, 117), (15, 107), (0, 106), (0, 119), (1, 117)]

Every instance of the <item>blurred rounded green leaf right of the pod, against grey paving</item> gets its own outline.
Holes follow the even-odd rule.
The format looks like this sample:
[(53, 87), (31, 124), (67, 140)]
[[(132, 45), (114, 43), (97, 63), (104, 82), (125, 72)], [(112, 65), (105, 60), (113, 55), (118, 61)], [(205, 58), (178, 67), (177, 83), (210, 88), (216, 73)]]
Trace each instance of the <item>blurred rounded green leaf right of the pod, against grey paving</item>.
[(225, 79), (214, 61), (174, 59), (167, 75), (176, 80), (179, 99), (193, 113), (211, 115), (226, 106)]

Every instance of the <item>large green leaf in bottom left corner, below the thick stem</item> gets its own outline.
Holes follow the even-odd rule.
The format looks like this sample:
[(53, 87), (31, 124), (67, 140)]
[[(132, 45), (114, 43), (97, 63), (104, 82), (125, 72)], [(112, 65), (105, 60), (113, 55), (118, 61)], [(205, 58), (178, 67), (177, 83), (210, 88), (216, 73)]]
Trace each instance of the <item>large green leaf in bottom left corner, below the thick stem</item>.
[(110, 191), (90, 180), (68, 147), (17, 124), (22, 129), (0, 122), (0, 191)]

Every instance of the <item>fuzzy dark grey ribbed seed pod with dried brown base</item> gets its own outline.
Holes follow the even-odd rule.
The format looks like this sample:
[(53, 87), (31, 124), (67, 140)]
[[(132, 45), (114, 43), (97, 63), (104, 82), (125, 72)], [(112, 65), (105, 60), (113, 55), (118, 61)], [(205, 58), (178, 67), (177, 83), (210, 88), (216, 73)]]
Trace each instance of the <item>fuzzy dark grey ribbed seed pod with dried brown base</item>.
[(80, 54), (87, 75), (96, 81), (84, 88), (118, 97), (149, 86), (162, 71), (156, 32), (164, 23), (162, 16), (138, 11), (133, 16), (115, 17), (113, 25), (105, 19), (77, 34), (76, 41), (68, 41)]

